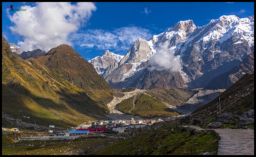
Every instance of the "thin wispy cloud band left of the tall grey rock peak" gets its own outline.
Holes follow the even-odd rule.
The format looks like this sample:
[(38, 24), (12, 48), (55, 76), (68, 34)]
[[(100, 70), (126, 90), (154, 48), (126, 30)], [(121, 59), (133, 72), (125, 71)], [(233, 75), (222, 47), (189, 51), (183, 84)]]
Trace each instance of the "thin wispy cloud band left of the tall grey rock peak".
[(116, 53), (128, 50), (139, 38), (149, 39), (151, 36), (152, 34), (148, 29), (131, 26), (115, 28), (112, 31), (87, 29), (80, 33), (71, 34), (69, 37), (73, 43), (83, 48), (113, 50)]

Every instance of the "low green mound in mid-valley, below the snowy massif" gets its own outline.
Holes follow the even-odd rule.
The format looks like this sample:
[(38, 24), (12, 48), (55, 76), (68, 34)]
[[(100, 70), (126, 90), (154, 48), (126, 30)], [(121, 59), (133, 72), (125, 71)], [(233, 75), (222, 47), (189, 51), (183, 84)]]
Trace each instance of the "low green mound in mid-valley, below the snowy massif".
[[(147, 90), (145, 94), (135, 95), (119, 103), (118, 109), (125, 114), (138, 115), (140, 117), (171, 117), (176, 116), (174, 109), (166, 106), (183, 105), (197, 91), (164, 87)], [(165, 104), (166, 103), (166, 104)], [(179, 114), (177, 114), (179, 115)]]

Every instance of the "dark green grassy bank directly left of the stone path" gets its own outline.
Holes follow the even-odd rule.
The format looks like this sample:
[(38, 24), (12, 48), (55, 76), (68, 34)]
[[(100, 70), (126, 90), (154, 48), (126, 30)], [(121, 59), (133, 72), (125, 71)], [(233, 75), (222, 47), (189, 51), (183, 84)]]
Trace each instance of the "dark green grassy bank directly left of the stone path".
[(186, 151), (186, 155), (198, 155), (201, 152), (217, 151), (218, 142), (214, 142), (215, 140), (218, 140), (218, 137), (211, 131), (190, 136), (190, 132), (180, 132), (175, 126), (163, 126), (111, 144), (96, 154), (181, 155)]

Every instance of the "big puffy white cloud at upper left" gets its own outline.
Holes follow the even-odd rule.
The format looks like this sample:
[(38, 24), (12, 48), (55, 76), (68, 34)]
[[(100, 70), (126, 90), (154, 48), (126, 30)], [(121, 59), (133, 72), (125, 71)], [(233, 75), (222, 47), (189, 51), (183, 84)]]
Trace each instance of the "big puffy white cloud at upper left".
[(21, 50), (50, 50), (61, 44), (72, 43), (68, 35), (84, 26), (96, 11), (94, 3), (36, 3), (35, 6), (21, 6), (26, 11), (16, 11), (13, 15), (7, 12), (15, 24), (10, 29), (23, 36), (18, 42)]

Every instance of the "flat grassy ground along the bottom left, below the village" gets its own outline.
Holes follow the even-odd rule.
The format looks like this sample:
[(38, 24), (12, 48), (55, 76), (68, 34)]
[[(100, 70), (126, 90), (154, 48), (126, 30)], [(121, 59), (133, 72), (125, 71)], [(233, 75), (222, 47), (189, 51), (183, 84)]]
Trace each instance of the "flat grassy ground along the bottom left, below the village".
[(95, 154), (98, 148), (118, 141), (118, 138), (110, 137), (80, 137), (76, 140), (17, 142), (2, 146), (2, 155)]

